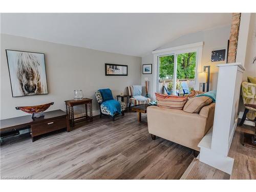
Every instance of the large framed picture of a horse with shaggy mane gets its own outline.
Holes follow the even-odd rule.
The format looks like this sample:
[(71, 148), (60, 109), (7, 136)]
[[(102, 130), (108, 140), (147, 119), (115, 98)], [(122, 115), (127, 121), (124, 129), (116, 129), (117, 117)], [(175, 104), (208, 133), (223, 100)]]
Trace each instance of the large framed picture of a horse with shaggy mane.
[(45, 54), (6, 50), (12, 97), (48, 94)]

